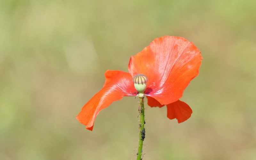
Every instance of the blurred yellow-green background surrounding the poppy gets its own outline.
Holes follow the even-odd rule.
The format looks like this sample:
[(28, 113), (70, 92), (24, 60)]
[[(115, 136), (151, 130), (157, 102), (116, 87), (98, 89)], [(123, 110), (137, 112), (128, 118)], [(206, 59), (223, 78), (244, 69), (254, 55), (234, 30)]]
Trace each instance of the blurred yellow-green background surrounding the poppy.
[[(0, 159), (131, 160), (138, 100), (76, 120), (107, 69), (128, 71), (154, 38), (182, 36), (202, 52), (181, 100), (192, 116), (146, 106), (143, 160), (256, 158), (256, 1), (0, 1)], [(147, 102), (147, 101), (146, 101)]]

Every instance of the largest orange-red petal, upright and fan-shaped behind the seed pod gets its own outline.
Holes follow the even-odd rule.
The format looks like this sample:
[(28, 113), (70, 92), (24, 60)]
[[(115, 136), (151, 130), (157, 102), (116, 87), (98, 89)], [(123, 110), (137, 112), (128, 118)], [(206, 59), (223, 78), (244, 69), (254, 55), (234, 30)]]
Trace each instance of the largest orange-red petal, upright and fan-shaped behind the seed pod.
[(137, 55), (132, 56), (128, 70), (132, 76), (148, 77), (146, 95), (161, 104), (177, 101), (189, 82), (198, 75), (201, 53), (185, 38), (156, 38)]

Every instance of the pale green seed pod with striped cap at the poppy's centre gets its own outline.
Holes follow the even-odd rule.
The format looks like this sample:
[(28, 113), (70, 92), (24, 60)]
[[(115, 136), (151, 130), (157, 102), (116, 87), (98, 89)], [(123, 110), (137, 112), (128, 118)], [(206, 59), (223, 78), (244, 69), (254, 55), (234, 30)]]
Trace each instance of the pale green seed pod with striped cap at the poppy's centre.
[(143, 74), (137, 74), (132, 78), (135, 89), (139, 92), (138, 96), (143, 97), (144, 91), (146, 90), (146, 83), (148, 82), (148, 77)]

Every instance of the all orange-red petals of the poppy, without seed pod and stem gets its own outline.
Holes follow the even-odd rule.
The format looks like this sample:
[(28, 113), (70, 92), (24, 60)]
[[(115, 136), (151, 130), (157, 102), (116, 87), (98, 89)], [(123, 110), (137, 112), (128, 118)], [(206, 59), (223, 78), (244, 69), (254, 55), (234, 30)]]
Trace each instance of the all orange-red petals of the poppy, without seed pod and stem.
[(144, 74), (148, 77), (144, 92), (148, 105), (166, 105), (168, 118), (176, 118), (178, 123), (184, 122), (191, 116), (192, 109), (179, 99), (189, 82), (198, 75), (201, 60), (200, 51), (183, 37), (156, 38), (131, 57), (129, 73), (107, 70), (103, 88), (84, 105), (76, 118), (92, 131), (94, 120), (102, 109), (124, 96), (136, 96), (132, 77)]

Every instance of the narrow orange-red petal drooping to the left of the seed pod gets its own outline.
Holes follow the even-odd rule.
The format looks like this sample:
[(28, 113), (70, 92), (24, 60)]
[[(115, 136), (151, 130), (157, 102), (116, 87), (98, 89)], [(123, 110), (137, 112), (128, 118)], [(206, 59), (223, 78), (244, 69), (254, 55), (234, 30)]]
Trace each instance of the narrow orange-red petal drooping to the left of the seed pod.
[(135, 96), (132, 76), (129, 73), (108, 70), (105, 73), (105, 84), (103, 88), (89, 100), (76, 119), (86, 125), (86, 129), (93, 129), (93, 123), (99, 112), (108, 107), (113, 101), (121, 100), (124, 96)]

